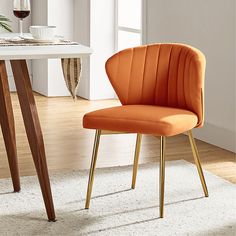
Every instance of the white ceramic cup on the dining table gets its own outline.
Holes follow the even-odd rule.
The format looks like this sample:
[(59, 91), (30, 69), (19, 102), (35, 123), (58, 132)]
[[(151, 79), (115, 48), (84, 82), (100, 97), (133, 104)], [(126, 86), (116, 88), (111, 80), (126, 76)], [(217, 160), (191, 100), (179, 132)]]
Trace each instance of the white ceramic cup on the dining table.
[(56, 26), (30, 26), (30, 33), (35, 39), (51, 40), (55, 36)]

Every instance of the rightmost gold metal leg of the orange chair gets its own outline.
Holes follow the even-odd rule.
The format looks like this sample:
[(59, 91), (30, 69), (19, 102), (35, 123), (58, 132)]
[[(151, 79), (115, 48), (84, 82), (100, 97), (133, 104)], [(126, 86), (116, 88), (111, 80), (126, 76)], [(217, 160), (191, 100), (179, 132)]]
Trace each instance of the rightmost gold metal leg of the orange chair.
[(194, 141), (193, 134), (192, 134), (191, 130), (188, 131), (188, 137), (189, 137), (189, 141), (190, 141), (193, 156), (194, 156), (194, 161), (195, 161), (195, 164), (197, 166), (198, 174), (199, 174), (199, 177), (200, 177), (200, 180), (201, 180), (201, 183), (202, 183), (202, 188), (203, 188), (203, 191), (205, 193), (205, 196), (208, 197), (209, 195), (208, 195), (208, 190), (207, 190), (207, 186), (206, 186), (206, 181), (205, 181), (205, 178), (204, 178), (204, 175), (203, 175), (202, 166), (201, 166), (201, 163), (200, 163), (197, 146), (196, 146), (196, 143)]

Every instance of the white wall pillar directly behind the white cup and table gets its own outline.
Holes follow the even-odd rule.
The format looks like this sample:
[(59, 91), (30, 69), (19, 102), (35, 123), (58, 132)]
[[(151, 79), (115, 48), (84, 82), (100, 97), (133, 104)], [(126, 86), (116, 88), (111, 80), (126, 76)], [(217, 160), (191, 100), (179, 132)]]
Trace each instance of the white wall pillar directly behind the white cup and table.
[[(62, 15), (63, 13), (63, 15)], [(74, 0), (33, 0), (33, 25), (55, 25), (56, 34), (74, 38)], [(59, 59), (33, 61), (33, 90), (45, 96), (69, 96)]]

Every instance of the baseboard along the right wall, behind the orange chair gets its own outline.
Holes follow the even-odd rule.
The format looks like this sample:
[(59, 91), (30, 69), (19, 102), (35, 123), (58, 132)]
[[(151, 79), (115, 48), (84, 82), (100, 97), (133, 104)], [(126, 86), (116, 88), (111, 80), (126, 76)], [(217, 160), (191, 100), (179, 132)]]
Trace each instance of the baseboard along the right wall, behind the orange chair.
[(193, 134), (197, 139), (236, 153), (236, 131), (205, 122), (202, 128), (194, 129)]

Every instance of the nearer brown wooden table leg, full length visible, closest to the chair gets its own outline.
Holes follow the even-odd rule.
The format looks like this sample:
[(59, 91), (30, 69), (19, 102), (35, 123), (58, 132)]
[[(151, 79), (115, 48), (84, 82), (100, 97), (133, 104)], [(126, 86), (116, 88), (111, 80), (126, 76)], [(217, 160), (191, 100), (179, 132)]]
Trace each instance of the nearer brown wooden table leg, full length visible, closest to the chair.
[(25, 60), (11, 60), (25, 129), (37, 170), (49, 221), (55, 220), (43, 135)]

